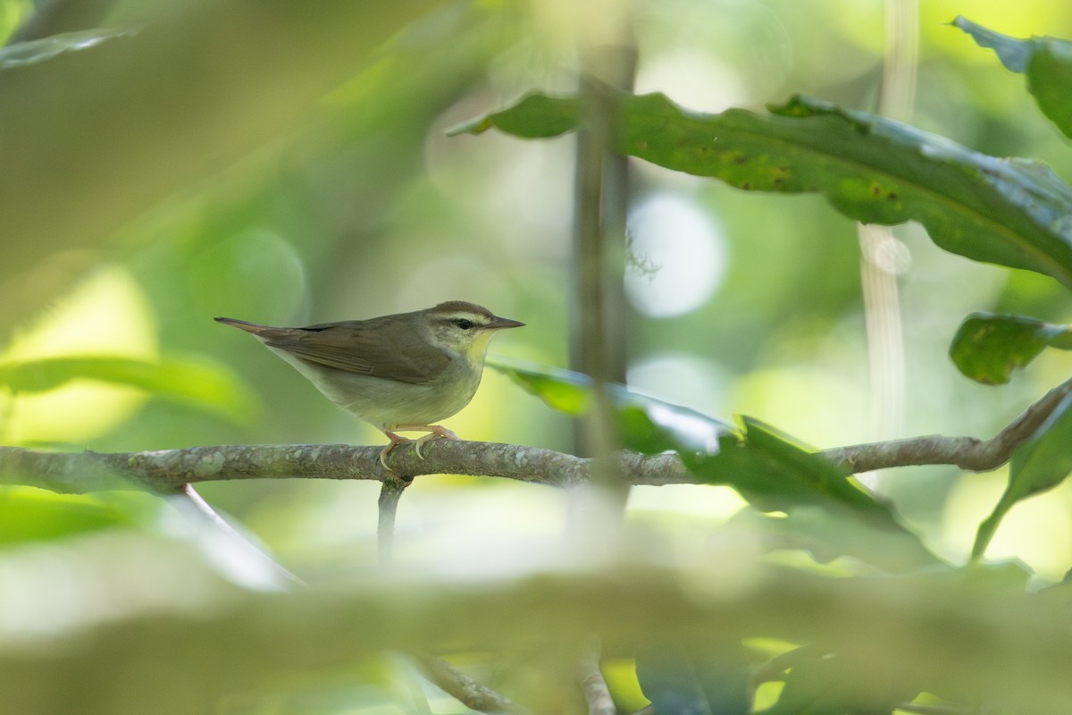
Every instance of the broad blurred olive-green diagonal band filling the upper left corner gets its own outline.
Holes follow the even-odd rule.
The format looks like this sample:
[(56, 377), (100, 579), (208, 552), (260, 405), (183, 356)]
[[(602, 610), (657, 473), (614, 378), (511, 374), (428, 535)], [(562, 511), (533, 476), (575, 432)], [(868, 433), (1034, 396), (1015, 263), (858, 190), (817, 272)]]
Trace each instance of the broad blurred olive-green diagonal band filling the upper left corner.
[(134, 34), (0, 68), (0, 329), (65, 287), (24, 271), (311, 125), (438, 4), (180, 3)]

